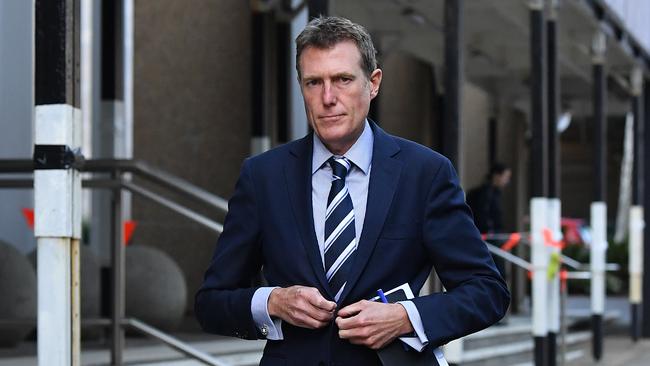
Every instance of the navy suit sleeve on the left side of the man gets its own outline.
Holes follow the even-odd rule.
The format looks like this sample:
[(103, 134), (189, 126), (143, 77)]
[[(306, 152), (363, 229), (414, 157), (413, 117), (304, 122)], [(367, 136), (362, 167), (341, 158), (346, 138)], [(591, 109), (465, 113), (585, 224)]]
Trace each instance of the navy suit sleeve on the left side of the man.
[(256, 288), (251, 283), (262, 263), (261, 229), (250, 165), (244, 162), (228, 203), (224, 230), (196, 293), (194, 312), (206, 332), (257, 339), (261, 335), (251, 313)]

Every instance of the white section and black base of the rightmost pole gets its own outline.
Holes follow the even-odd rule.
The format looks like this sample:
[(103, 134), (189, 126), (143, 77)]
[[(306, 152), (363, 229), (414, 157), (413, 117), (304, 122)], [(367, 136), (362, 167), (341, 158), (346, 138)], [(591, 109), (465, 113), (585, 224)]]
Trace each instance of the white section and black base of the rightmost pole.
[(640, 306), (643, 297), (643, 206), (630, 208), (630, 242), (629, 242), (629, 269), (630, 269), (630, 305), (632, 312), (632, 338), (636, 341), (640, 336)]

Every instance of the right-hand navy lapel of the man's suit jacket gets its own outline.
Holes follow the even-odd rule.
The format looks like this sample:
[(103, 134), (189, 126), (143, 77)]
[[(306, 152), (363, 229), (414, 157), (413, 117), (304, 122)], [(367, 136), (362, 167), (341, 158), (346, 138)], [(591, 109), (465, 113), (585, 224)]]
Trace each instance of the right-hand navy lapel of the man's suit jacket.
[(372, 168), (368, 183), (366, 217), (363, 222), (357, 253), (339, 303), (342, 303), (354, 288), (375, 249), (402, 173), (402, 163), (393, 158), (400, 151), (399, 146), (392, 137), (383, 132), (376, 124), (371, 122), (371, 125), (374, 143)]

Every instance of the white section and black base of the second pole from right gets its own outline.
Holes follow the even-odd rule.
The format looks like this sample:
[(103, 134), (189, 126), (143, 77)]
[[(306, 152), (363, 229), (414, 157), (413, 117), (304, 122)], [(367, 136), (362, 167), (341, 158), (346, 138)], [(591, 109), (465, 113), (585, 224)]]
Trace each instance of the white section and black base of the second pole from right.
[(591, 203), (591, 313), (594, 355), (602, 354), (602, 321), (605, 312), (605, 261), (607, 252), (607, 204)]

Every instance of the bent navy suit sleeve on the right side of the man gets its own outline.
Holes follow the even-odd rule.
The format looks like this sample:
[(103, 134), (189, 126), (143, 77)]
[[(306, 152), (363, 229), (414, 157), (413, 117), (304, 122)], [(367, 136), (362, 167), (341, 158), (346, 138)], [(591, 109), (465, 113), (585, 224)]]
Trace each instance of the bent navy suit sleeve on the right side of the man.
[(424, 245), (446, 292), (413, 302), (429, 343), (437, 347), (497, 322), (510, 294), (447, 159), (433, 179), (424, 216)]

